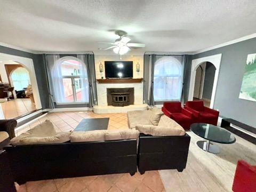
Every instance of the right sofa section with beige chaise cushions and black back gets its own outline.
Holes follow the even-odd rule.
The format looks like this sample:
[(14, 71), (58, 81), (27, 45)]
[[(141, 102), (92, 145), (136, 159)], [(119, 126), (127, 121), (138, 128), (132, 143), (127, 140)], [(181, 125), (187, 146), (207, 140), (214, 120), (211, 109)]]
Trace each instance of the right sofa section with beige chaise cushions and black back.
[(141, 132), (138, 170), (141, 174), (145, 171), (164, 169), (177, 169), (181, 172), (186, 168), (190, 137), (177, 122), (165, 115), (161, 116), (158, 125), (153, 125), (150, 121), (150, 118), (154, 117), (153, 113), (154, 110), (148, 110), (147, 113), (145, 111), (127, 113), (129, 128), (135, 127)]

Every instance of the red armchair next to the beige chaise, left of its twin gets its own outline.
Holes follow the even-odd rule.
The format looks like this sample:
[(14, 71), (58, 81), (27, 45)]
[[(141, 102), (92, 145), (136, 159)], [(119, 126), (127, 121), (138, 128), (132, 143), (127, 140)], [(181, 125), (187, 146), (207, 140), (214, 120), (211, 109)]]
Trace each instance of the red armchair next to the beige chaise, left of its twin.
[(175, 122), (179, 123), (183, 129), (189, 130), (191, 118), (193, 116), (188, 110), (181, 107), (181, 102), (164, 102), (162, 107), (164, 115), (172, 118)]

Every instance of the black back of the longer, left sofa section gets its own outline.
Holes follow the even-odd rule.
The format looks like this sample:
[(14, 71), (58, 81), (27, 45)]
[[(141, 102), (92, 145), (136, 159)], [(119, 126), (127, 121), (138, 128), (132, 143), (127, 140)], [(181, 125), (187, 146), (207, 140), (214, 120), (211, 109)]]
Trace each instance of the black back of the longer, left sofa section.
[(137, 141), (7, 146), (14, 180), (27, 181), (137, 172)]

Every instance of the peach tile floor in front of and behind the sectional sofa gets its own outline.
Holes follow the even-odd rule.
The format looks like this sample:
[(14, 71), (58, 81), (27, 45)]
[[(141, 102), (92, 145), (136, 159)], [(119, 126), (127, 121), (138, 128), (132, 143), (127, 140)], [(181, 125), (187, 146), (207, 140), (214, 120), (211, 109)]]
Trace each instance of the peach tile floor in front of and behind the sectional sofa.
[[(45, 117), (24, 127), (22, 130), (16, 132), (19, 135), (37, 124), (50, 119), (53, 123), (55, 130), (70, 131), (74, 130), (83, 118), (102, 118), (109, 117), (108, 129), (129, 129), (127, 124), (126, 114), (94, 114), (92, 111), (82, 112), (60, 112), (49, 113)], [(163, 182), (158, 171), (148, 171), (141, 175), (137, 172), (133, 177), (129, 173), (125, 174), (109, 174), (90, 177), (54, 179), (27, 182), (25, 185), (18, 186), (18, 191), (42, 191), (42, 192), (55, 192), (55, 191), (165, 191)]]

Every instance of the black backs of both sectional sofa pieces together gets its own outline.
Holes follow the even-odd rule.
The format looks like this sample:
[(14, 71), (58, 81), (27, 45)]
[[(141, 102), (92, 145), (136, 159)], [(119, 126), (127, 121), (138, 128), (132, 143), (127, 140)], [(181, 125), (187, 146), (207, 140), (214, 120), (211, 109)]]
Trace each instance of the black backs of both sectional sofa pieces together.
[[(14, 181), (82, 177), (186, 167), (189, 135), (137, 140), (65, 142), (44, 145), (6, 146)], [(138, 151), (137, 151), (138, 150)]]

